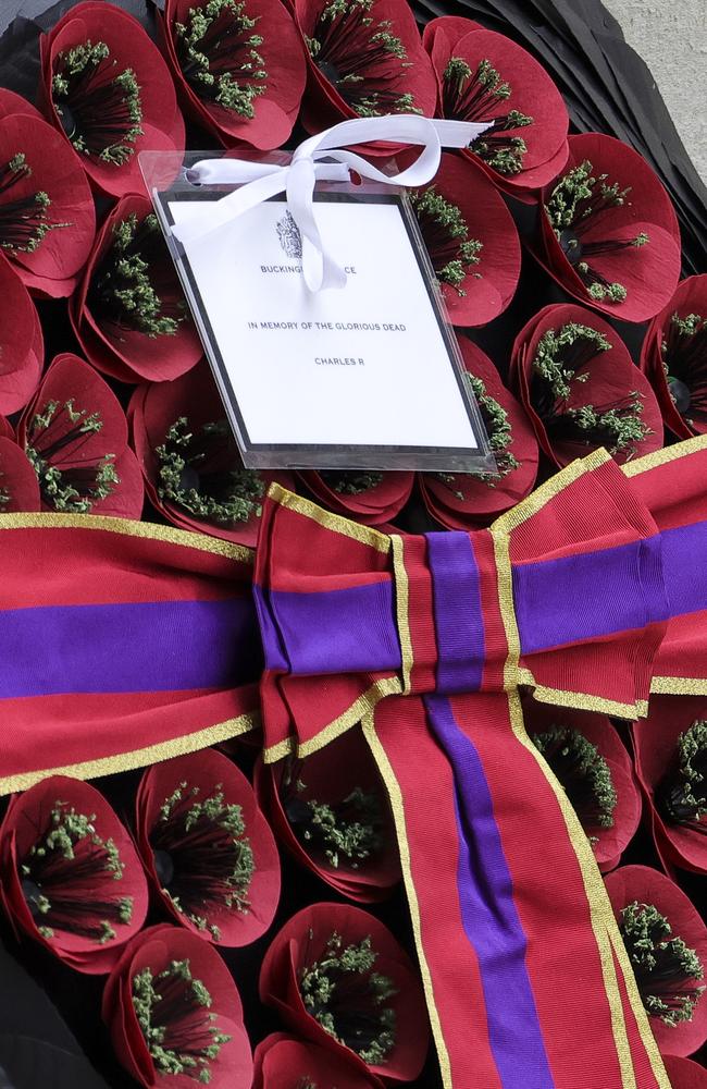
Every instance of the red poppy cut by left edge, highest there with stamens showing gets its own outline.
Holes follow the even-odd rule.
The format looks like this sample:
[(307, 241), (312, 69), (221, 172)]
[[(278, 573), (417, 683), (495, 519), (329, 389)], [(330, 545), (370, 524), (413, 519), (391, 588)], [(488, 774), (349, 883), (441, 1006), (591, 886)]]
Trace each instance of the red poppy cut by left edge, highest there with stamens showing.
[(96, 232), (90, 187), (51, 125), (0, 90), (0, 248), (38, 295), (70, 295)]

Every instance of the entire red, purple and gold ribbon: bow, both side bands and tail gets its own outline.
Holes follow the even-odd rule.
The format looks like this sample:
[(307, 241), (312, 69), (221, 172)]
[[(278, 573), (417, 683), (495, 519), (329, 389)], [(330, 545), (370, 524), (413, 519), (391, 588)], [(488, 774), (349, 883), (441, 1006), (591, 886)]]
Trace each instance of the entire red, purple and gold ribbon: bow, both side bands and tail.
[[(265, 758), (361, 729), (389, 791), (447, 1089), (668, 1089), (590, 843), (519, 690), (623, 718), (707, 695), (707, 440), (573, 463), (489, 530), (388, 537), (275, 489)], [(252, 553), (0, 515), (0, 793), (257, 722)]]

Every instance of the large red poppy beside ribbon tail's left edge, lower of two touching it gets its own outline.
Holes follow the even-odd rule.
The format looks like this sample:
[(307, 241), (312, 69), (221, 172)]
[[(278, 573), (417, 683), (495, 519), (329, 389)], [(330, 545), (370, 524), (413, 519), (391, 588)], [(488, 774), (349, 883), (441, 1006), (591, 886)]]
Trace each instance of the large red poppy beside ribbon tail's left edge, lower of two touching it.
[(363, 1074), (412, 1081), (422, 1069), (430, 1033), (418, 975), (390, 931), (358, 907), (312, 904), (285, 923), (265, 953), (260, 998)]

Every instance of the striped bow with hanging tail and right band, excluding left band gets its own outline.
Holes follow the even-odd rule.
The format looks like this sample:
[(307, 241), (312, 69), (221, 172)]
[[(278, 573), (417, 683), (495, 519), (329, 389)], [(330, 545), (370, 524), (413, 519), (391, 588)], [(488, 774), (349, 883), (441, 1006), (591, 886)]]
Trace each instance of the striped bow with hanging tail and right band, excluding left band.
[(388, 537), (271, 493), (255, 576), (265, 759), (362, 721), (445, 1086), (669, 1086), (519, 688), (624, 719), (652, 685), (685, 690), (685, 670), (705, 690), (706, 461), (702, 441), (625, 472), (599, 451), (471, 534)]

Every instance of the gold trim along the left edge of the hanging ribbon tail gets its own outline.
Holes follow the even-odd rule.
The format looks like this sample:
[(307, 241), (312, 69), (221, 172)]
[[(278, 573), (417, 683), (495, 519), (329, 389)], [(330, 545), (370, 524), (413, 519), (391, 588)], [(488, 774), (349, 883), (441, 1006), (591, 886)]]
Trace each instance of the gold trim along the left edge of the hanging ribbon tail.
[(402, 881), (405, 884), (405, 891), (408, 897), (408, 906), (410, 909), (410, 920), (412, 923), (412, 933), (414, 937), (414, 945), (418, 952), (418, 962), (420, 964), (420, 975), (422, 976), (422, 987), (424, 990), (425, 1002), (427, 1005), (427, 1013), (430, 1015), (430, 1025), (432, 1028), (432, 1036), (434, 1038), (435, 1048), (437, 1051), (437, 1059), (439, 1061), (439, 1072), (442, 1074), (442, 1084), (444, 1089), (454, 1089), (454, 1082), (451, 1080), (451, 1064), (449, 1062), (449, 1052), (447, 1051), (447, 1044), (445, 1043), (444, 1032), (442, 1030), (442, 1021), (439, 1019), (439, 1014), (437, 1012), (437, 1006), (434, 1000), (434, 987), (432, 983), (432, 974), (430, 971), (430, 966), (427, 965), (427, 958), (424, 952), (424, 945), (422, 943), (422, 926), (420, 922), (420, 904), (418, 902), (418, 893), (414, 888), (414, 881), (412, 878), (412, 866), (410, 865), (410, 845), (408, 843), (408, 834), (406, 829), (405, 820), (405, 804), (402, 802), (402, 792), (400, 785), (396, 779), (395, 772), (390, 766), (385, 748), (381, 744), (377, 733), (375, 732), (375, 724), (373, 721), (373, 714), (368, 714), (361, 722), (361, 727), (363, 730), (363, 736), (365, 737), (373, 758), (379, 767), (381, 778), (385, 783), (386, 790), (388, 792), (388, 797), (390, 799), (390, 809), (393, 810), (393, 817), (395, 820), (395, 829), (398, 840), (398, 848), (400, 851), (400, 866), (402, 868)]

